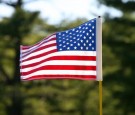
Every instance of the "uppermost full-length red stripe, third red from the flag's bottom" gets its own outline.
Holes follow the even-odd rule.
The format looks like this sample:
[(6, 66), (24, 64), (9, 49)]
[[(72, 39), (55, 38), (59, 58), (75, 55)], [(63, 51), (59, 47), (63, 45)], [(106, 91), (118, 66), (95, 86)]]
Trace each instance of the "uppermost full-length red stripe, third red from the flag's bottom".
[[(42, 54), (41, 54), (41, 56), (42, 56)], [(85, 60), (85, 61), (96, 61), (96, 57), (95, 56), (53, 56), (53, 57), (47, 58), (47, 59), (39, 61), (39, 62), (31, 63), (31, 64), (28, 64), (28, 65), (23, 65), (21, 67), (22, 68), (33, 67), (33, 66), (39, 65), (39, 64), (41, 64), (43, 62), (50, 61), (50, 60)]]

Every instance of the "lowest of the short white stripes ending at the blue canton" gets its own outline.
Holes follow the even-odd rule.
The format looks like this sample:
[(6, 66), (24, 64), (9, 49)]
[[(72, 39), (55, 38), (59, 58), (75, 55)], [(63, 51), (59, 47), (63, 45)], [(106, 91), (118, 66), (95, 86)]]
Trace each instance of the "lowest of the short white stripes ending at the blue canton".
[(29, 55), (26, 55), (26, 56), (22, 55), (22, 56), (24, 56), (22, 58), (22, 60), (28, 59), (30, 57), (33, 57), (33, 56), (36, 56), (36, 55), (39, 55), (39, 54), (42, 54), (42, 53), (46, 53), (46, 52), (54, 50), (54, 49), (56, 49), (56, 46), (52, 46), (52, 47), (49, 47), (49, 48), (46, 48), (46, 49), (43, 49), (43, 50), (40, 50), (40, 51), (37, 51), (37, 52), (33, 52), (33, 53), (30, 53)]

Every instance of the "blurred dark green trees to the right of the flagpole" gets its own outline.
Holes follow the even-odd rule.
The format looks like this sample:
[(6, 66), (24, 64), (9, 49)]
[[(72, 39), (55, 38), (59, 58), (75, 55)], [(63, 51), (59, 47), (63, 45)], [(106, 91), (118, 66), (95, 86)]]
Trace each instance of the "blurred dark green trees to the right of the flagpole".
[(104, 59), (110, 57), (112, 60), (112, 62), (110, 62), (110, 59), (104, 60), (104, 69), (105, 72), (108, 72), (105, 74), (104, 84), (106, 88), (111, 90), (112, 101), (115, 102), (111, 106), (114, 109), (112, 115), (133, 115), (135, 114), (135, 99), (133, 98), (135, 96), (133, 91), (135, 87), (135, 62), (133, 61), (135, 58), (135, 18), (133, 10), (135, 1), (99, 1), (122, 12), (122, 16), (117, 18), (111, 18), (108, 14), (105, 17), (103, 28), (103, 43), (106, 47), (103, 51)]

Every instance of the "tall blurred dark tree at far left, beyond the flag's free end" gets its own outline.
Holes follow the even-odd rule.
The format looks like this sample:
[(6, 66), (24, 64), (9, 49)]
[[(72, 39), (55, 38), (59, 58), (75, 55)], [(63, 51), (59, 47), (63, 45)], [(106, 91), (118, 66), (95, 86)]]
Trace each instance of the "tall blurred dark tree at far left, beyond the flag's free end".
[[(0, 22), (0, 36), (2, 45), (0, 53), (0, 79), (1, 83), (3, 84), (3, 88), (5, 87), (4, 83), (8, 88), (11, 88), (11, 90), (8, 92), (6, 92), (8, 88), (6, 88), (4, 91), (5, 93), (9, 93), (7, 94), (7, 99), (11, 99), (9, 100), (10, 104), (7, 104), (5, 109), (9, 115), (22, 115), (23, 97), (19, 88), (21, 86), (19, 69), (20, 44), (22, 43), (23, 37), (30, 33), (31, 28), (37, 19), (38, 12), (30, 13), (24, 11), (22, 9), (22, 0), (17, 0), (15, 2), (1, 0), (0, 2), (12, 6), (15, 9), (15, 12), (11, 18), (3, 19)], [(12, 53), (12, 55), (10, 55), (10, 53)], [(10, 70), (8, 68), (10, 68)]]

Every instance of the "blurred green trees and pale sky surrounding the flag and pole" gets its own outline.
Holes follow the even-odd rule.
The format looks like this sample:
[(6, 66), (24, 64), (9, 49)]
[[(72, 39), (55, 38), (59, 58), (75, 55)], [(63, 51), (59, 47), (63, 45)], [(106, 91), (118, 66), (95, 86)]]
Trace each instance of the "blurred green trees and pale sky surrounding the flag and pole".
[(103, 115), (135, 115), (135, 0), (0, 0), (0, 115), (98, 115), (98, 82), (21, 82), (20, 44), (103, 17)]

